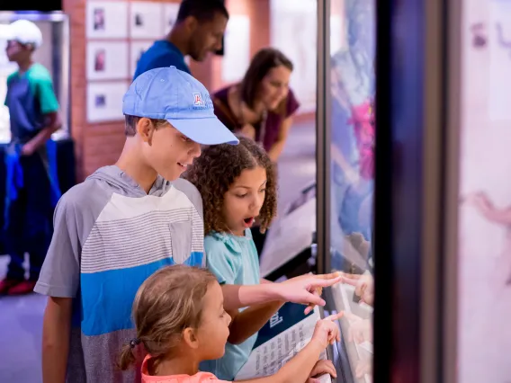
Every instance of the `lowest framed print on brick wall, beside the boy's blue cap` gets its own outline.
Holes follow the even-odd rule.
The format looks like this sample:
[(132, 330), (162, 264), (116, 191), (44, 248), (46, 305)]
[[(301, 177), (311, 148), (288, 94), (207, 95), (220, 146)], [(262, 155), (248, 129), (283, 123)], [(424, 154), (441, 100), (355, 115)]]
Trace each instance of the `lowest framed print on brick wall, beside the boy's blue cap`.
[(89, 123), (122, 120), (122, 97), (130, 87), (126, 81), (87, 85), (87, 121)]

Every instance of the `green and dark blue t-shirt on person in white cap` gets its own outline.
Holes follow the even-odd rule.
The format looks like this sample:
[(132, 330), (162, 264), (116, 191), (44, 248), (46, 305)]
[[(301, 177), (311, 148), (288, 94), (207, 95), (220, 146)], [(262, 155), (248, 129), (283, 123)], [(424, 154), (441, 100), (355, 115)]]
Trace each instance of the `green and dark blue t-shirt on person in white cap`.
[(9, 108), (11, 135), (21, 143), (46, 127), (45, 114), (58, 111), (58, 101), (48, 69), (33, 64), (25, 73), (7, 77), (5, 105)]

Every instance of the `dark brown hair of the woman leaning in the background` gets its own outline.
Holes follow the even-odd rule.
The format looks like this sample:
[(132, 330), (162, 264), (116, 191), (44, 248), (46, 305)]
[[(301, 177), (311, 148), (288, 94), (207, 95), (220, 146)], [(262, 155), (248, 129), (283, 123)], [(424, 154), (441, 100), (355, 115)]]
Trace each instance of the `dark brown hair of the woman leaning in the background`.
[(264, 48), (255, 53), (239, 87), (241, 100), (249, 108), (254, 108), (259, 85), (263, 81), (264, 76), (274, 67), (280, 66), (287, 67), (290, 71), (293, 69), (291, 60), (279, 49)]

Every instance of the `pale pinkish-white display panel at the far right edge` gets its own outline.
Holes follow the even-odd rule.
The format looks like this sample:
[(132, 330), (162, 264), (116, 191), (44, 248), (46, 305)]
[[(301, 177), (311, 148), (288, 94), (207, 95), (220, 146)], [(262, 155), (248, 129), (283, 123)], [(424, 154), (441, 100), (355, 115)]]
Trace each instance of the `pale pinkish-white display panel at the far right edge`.
[(511, 1), (463, 0), (461, 50), (457, 381), (504, 383), (511, 377)]

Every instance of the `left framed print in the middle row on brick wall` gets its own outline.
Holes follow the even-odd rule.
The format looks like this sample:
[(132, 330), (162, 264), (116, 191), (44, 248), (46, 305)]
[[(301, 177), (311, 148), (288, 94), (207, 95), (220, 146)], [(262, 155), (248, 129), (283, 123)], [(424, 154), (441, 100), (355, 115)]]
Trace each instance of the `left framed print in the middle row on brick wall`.
[(87, 80), (117, 80), (130, 77), (128, 43), (91, 41), (87, 43)]

